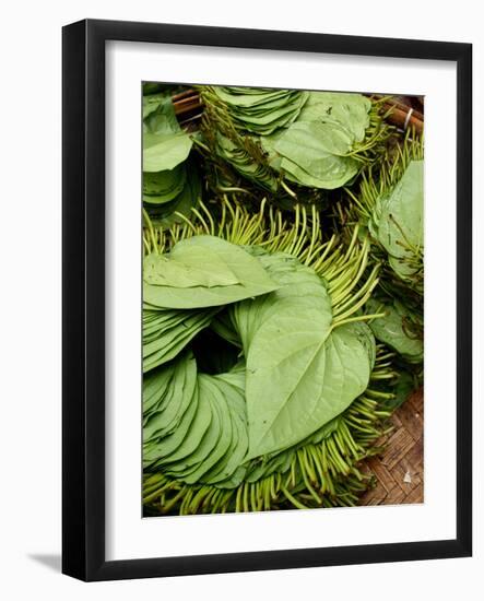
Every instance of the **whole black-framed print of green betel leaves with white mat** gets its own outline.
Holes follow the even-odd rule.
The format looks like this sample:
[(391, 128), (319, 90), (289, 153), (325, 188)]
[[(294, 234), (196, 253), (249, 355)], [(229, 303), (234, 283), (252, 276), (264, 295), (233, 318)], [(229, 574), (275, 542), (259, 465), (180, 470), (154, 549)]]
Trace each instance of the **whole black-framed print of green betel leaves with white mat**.
[(63, 28), (63, 573), (469, 556), (468, 44)]

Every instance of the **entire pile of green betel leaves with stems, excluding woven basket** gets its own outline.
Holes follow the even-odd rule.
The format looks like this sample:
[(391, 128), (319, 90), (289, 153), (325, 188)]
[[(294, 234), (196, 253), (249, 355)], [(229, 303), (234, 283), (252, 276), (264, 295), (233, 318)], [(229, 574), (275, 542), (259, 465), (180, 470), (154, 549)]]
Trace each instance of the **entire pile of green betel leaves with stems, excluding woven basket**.
[(144, 512), (357, 505), (423, 379), (423, 140), (361, 94), (180, 91), (143, 90)]

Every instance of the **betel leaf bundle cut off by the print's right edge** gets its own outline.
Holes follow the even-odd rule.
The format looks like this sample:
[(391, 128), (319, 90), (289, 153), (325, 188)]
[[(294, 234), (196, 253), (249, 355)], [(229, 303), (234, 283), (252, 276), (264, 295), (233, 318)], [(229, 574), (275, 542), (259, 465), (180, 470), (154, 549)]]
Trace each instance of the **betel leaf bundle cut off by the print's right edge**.
[[(423, 156), (422, 139), (408, 134), (387, 162), (364, 175), (355, 192), (349, 190), (346, 207), (349, 235), (357, 222), (370, 237), (373, 261), (382, 266), (367, 308), (385, 315), (370, 327), (378, 340), (396, 351), (399, 386), (405, 392), (423, 380)], [(389, 406), (396, 409), (398, 403)]]

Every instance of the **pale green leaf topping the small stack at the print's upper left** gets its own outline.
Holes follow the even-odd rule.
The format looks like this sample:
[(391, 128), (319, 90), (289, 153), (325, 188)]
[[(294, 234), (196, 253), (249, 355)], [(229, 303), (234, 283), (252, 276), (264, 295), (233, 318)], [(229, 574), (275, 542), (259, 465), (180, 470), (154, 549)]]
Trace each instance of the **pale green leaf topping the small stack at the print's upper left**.
[(143, 133), (143, 172), (173, 169), (190, 154), (192, 141), (188, 133)]

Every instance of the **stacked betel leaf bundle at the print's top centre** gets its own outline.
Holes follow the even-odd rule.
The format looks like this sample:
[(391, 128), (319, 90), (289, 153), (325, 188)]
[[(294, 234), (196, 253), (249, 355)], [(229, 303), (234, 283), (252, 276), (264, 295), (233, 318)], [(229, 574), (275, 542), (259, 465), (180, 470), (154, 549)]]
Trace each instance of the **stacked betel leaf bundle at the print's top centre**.
[[(390, 132), (379, 105), (361, 94), (204, 87), (201, 96), (210, 154), (257, 186), (293, 198), (297, 190), (304, 199), (302, 187), (333, 190), (354, 180)], [(215, 188), (231, 184), (226, 169), (217, 175)]]

